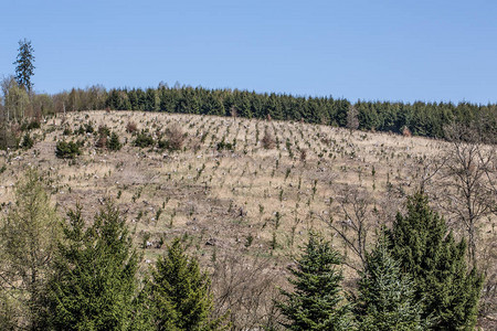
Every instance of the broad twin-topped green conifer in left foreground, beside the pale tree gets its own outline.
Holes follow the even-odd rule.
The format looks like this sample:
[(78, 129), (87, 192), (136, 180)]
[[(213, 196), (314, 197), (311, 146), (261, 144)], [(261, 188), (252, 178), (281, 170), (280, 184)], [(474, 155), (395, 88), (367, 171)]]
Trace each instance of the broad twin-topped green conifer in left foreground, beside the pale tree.
[[(119, 211), (108, 203), (85, 229), (70, 211), (46, 290), (44, 321), (53, 330), (133, 330), (139, 257)], [(137, 328), (139, 329), (139, 328)], [(144, 327), (144, 329), (146, 329)]]

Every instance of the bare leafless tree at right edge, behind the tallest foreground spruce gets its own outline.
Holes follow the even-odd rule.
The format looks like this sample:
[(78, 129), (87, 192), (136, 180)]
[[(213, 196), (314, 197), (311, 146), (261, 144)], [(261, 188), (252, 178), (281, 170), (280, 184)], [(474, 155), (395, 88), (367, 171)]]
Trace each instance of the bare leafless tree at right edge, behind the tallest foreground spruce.
[(478, 131), (468, 126), (445, 128), (451, 148), (442, 175), (444, 209), (452, 223), (468, 239), (470, 261), (476, 266), (478, 226), (484, 217), (496, 215), (496, 146), (485, 145)]

